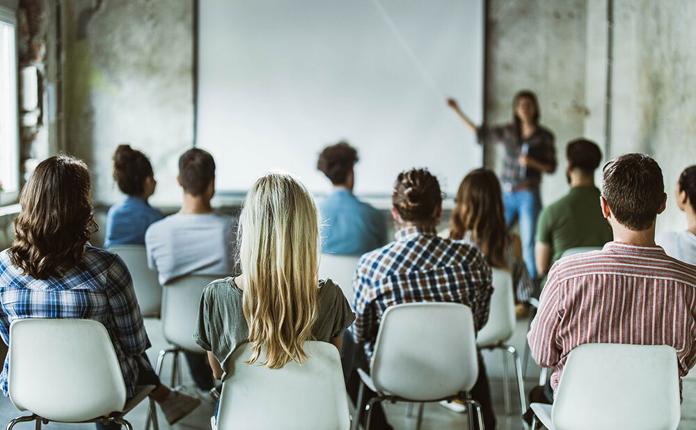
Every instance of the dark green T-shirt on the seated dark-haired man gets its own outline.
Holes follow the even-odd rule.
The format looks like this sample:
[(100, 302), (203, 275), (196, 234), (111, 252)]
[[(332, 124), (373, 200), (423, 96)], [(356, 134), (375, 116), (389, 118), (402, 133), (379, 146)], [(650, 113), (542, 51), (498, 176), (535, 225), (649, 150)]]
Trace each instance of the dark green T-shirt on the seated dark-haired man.
[(613, 234), (602, 214), (599, 196), (596, 186), (574, 186), (541, 211), (537, 242), (551, 245), (552, 265), (570, 248), (601, 248), (612, 241)]

